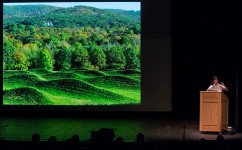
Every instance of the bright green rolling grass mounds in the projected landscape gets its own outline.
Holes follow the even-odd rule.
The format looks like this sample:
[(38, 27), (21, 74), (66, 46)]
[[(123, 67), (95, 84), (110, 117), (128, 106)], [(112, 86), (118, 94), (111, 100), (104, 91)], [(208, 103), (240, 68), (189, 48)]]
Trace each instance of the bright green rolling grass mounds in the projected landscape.
[(3, 71), (3, 104), (139, 104), (140, 72), (68, 70)]

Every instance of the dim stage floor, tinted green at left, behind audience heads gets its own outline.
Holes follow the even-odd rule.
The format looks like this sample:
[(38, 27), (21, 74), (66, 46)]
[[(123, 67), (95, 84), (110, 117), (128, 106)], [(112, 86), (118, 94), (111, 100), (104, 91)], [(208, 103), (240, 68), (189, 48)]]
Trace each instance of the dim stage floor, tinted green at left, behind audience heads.
[[(184, 132), (185, 126), (185, 132)], [(80, 141), (88, 141), (91, 131), (100, 128), (114, 130), (116, 137), (123, 137), (125, 142), (133, 142), (136, 134), (145, 135), (145, 141), (190, 140), (201, 138), (215, 140), (219, 133), (200, 133), (197, 119), (114, 119), (114, 118), (60, 118), (60, 117), (2, 117), (0, 119), (0, 140), (31, 140), (33, 133), (39, 133), (45, 141), (54, 135), (58, 141), (65, 141), (74, 134)], [(184, 134), (185, 133), (185, 134)], [(222, 133), (225, 140), (241, 140), (242, 133)]]

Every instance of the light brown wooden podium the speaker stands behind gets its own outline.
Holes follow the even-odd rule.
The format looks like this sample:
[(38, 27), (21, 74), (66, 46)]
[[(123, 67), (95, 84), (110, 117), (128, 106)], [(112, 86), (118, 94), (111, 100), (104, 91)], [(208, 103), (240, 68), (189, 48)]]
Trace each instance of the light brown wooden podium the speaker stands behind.
[(223, 92), (200, 91), (200, 132), (228, 130), (229, 98)]

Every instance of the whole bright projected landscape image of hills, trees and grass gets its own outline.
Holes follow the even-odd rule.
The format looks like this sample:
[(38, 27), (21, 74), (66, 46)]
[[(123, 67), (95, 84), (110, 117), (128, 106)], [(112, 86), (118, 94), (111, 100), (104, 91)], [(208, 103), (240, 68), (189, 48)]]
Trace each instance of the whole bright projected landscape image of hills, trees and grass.
[(140, 104), (140, 2), (4, 3), (2, 68), (3, 105)]

